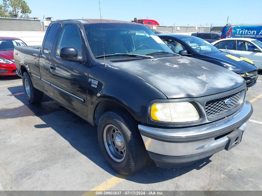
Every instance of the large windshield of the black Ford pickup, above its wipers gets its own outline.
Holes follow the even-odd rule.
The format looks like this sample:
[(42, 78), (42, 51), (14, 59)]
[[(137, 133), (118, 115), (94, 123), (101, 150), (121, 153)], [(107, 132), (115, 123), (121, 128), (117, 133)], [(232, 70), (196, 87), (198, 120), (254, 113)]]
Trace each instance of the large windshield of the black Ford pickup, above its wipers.
[(84, 24), (84, 28), (95, 57), (116, 53), (146, 55), (160, 50), (172, 52), (151, 29), (144, 25), (102, 23), (103, 39), (100, 23)]

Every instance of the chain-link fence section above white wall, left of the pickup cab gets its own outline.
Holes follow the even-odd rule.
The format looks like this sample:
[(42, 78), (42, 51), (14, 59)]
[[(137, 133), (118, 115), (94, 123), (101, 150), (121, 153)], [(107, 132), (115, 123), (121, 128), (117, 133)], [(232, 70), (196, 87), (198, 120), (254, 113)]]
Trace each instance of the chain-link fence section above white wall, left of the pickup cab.
[(46, 31), (51, 20), (0, 17), (0, 31)]

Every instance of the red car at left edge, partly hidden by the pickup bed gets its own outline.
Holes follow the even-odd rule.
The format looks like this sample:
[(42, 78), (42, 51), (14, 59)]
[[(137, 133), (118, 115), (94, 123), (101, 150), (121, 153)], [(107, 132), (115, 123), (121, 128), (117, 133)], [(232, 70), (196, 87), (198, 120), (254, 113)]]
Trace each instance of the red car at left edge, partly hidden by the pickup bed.
[(15, 46), (27, 45), (16, 37), (0, 37), (0, 76), (16, 75), (16, 66), (14, 63)]

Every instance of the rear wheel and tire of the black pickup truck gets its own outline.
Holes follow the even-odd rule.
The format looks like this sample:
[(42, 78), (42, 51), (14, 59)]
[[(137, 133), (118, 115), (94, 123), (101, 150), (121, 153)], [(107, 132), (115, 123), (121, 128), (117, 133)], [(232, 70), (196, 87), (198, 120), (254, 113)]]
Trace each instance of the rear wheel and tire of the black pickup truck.
[[(41, 102), (41, 100), (43, 98), (43, 92), (41, 92), (40, 90), (33, 87), (33, 83), (32, 83), (31, 78), (30, 78), (30, 76), (27, 72), (24, 72), (22, 79), (23, 79), (24, 94), (25, 94), (25, 97), (27, 98), (28, 102), (29, 103)], [(25, 87), (25, 83), (28, 84), (27, 86), (29, 86), (29, 88)], [(27, 92), (26, 89), (29, 90), (29, 93)]]

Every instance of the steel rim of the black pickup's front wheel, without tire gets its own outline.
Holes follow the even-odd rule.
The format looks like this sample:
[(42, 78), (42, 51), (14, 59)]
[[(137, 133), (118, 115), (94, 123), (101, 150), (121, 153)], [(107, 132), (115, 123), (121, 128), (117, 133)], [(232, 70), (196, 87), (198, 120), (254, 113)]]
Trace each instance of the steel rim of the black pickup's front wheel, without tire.
[(126, 156), (124, 138), (118, 128), (109, 124), (104, 128), (104, 145), (109, 156), (116, 162), (121, 162)]

